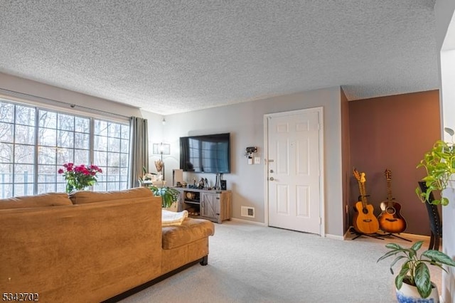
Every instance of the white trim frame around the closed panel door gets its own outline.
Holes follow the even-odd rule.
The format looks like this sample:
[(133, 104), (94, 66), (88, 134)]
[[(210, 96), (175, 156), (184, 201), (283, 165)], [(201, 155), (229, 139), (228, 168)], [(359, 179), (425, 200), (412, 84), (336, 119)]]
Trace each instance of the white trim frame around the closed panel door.
[(324, 196), (324, 141), (323, 141), (323, 107), (311, 107), (304, 110), (291, 110), (289, 112), (274, 112), (264, 115), (264, 223), (269, 226), (269, 117), (303, 114), (306, 112), (319, 112), (319, 213), (321, 215), (321, 236), (326, 236), (326, 199)]

